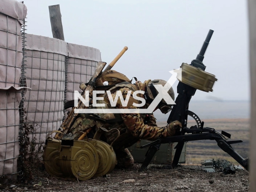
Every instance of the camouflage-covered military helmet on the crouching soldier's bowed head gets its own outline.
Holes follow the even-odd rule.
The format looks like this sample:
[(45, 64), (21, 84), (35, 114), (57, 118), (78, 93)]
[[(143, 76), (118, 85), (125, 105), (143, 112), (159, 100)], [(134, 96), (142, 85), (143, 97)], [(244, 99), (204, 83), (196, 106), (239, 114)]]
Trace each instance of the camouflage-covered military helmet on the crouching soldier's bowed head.
[[(154, 98), (156, 98), (158, 91), (156, 90), (154, 85), (164, 86), (166, 83), (167, 82), (162, 79), (155, 79), (155, 80), (150, 81), (148, 83), (148, 86), (146, 87), (146, 92), (145, 92), (146, 101), (151, 103), (154, 100)], [(172, 100), (174, 100), (174, 90), (172, 87), (168, 90), (168, 94), (171, 96)], [(158, 108), (161, 110), (162, 113), (166, 114), (170, 110), (172, 110), (172, 105), (168, 105), (165, 102), (165, 100), (162, 99), (161, 102), (158, 104)]]

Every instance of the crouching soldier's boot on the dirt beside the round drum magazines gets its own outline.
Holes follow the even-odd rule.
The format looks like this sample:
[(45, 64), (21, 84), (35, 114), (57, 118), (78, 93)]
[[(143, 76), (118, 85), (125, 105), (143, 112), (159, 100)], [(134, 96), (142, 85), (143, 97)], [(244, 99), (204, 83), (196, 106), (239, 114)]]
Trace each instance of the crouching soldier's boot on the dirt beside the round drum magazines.
[(134, 166), (134, 159), (130, 151), (125, 149), (116, 150), (117, 168), (131, 168)]

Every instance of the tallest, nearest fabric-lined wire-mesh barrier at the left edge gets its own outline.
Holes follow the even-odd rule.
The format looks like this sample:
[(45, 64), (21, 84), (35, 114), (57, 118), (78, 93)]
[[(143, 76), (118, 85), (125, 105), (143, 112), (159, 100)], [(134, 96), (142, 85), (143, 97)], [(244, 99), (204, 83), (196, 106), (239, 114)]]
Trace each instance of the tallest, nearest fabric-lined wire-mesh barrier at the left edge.
[[(0, 1), (0, 176), (17, 176), (19, 157), (22, 37), (27, 8), (14, 0)], [(22, 28), (23, 27), (23, 28)]]

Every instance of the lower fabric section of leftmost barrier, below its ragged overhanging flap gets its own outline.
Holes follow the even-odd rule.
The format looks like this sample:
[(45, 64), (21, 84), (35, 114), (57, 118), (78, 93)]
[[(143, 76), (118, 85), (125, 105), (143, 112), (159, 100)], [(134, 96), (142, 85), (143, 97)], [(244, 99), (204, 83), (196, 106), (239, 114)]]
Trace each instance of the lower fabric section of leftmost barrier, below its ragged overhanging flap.
[(17, 172), (22, 88), (0, 88), (0, 176)]

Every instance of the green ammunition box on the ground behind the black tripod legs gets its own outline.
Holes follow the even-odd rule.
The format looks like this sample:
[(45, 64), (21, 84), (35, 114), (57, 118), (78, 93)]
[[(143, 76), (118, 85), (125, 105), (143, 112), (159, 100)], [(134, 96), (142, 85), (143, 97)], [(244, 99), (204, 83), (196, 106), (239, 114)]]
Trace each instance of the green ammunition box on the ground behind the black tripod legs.
[[(143, 146), (150, 142), (152, 141), (140, 140), (128, 148), (135, 162), (144, 162), (146, 152), (148, 151), (148, 147), (141, 149), (140, 146)], [(174, 158), (174, 154), (176, 151), (176, 149), (174, 149), (176, 144), (177, 143), (161, 144), (160, 149), (156, 152), (155, 156), (152, 158), (151, 163), (172, 164), (172, 160)], [(186, 143), (184, 144), (184, 147), (182, 149), (179, 163), (186, 163)]]

